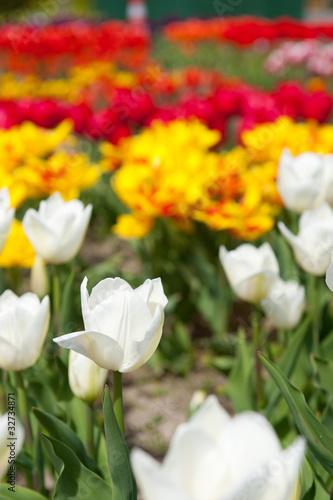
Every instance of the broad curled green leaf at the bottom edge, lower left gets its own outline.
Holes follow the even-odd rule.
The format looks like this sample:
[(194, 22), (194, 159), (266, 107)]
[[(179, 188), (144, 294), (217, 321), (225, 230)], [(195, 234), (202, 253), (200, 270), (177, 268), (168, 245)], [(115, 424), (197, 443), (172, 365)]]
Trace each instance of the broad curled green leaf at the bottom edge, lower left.
[(45, 435), (42, 442), (59, 476), (53, 500), (112, 499), (111, 486), (87, 469), (66, 444)]

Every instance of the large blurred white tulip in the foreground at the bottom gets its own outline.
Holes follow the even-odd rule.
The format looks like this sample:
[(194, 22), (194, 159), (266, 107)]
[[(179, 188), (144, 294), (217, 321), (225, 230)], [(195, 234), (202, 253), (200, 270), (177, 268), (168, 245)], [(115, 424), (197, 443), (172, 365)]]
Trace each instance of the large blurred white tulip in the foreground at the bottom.
[(291, 500), (305, 452), (286, 450), (255, 412), (231, 418), (210, 396), (172, 438), (163, 464), (135, 449), (134, 473), (145, 500)]

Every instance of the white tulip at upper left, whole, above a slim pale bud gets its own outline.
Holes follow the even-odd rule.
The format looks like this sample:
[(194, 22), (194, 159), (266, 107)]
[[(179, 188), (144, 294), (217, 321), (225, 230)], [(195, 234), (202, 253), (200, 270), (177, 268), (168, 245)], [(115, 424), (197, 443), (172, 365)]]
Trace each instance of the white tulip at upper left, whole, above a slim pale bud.
[(61, 264), (75, 257), (85, 237), (92, 205), (80, 200), (65, 202), (60, 193), (41, 201), (23, 217), (23, 229), (36, 253), (45, 262)]

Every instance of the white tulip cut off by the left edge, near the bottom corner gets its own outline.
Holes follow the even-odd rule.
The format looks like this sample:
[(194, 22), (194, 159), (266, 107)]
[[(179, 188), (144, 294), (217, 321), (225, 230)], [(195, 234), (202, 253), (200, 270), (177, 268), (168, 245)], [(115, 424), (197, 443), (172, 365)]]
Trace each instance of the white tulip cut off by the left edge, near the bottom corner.
[[(13, 416), (10, 415), (12, 418)], [(12, 421), (11, 421), (12, 422)], [(13, 431), (12, 431), (13, 432)], [(15, 451), (15, 458), (19, 454), (24, 443), (24, 429), (21, 423), (15, 418), (15, 435), (8, 434), (8, 413), (0, 417), (0, 481), (5, 476), (7, 470), (15, 465), (11, 460), (14, 458), (11, 451)], [(8, 439), (11, 438), (11, 439)], [(13, 439), (15, 438), (15, 440)], [(10, 442), (15, 442), (13, 450), (10, 449)], [(15, 448), (15, 450), (14, 450)], [(10, 462), (10, 463), (8, 463)]]

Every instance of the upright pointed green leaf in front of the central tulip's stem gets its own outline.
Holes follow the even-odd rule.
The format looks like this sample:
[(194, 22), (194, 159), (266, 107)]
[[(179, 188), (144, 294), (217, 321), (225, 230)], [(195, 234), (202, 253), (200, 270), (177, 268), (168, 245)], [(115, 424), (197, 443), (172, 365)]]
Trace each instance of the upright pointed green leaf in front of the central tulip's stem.
[(137, 489), (131, 470), (129, 451), (114, 414), (108, 387), (105, 388), (103, 395), (103, 415), (106, 449), (115, 500), (136, 500)]

